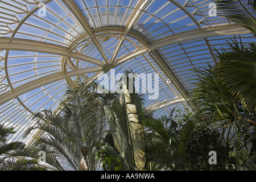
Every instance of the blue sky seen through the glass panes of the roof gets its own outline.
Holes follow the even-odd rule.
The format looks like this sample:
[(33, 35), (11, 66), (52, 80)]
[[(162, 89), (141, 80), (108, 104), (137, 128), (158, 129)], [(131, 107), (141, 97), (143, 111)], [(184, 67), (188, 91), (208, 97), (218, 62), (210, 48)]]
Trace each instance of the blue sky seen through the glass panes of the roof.
[[(138, 0), (75, 0), (75, 2), (85, 18), (89, 21), (90, 26), (94, 29), (101, 26), (123, 28), (129, 19), (130, 13), (133, 12), (134, 7), (137, 5)], [(116, 7), (118, 2), (119, 7)], [(204, 28), (226, 23), (220, 16), (210, 17), (208, 15), (208, 2), (200, 0), (195, 1), (195, 3), (199, 9), (189, 6), (189, 2), (186, 0), (179, 0), (181, 6), (185, 5), (185, 9), (189, 13), (194, 14), (193, 17), (199, 22), (201, 27)], [(10, 38), (12, 31), (15, 30), (20, 20), (26, 17), (26, 10), (31, 11), (37, 6), (33, 3), (28, 3), (27, 8), (24, 8), (23, 5), (25, 4), (26, 2), (22, 0), (7, 0), (5, 3), (0, 2), (0, 38)], [(77, 20), (66, 7), (67, 6), (60, 0), (49, 2), (24, 21), (14, 35), (14, 38), (69, 47), (73, 40), (81, 38), (82, 35), (84, 35), (84, 30), (79, 20)], [(146, 12), (143, 12), (141, 16), (139, 16), (133, 30), (145, 36), (150, 42), (164, 39), (165, 36), (176, 35), (186, 31), (189, 32), (197, 28), (197, 24), (183, 10), (179, 9), (179, 7), (175, 6), (170, 1), (152, 0), (148, 3), (145, 10)], [(111, 53), (118, 43), (118, 36), (104, 41), (101, 40), (102, 48), (104, 48), (108, 57), (112, 56)], [(220, 44), (225, 44), (226, 40), (230, 40), (231, 38), (234, 38), (234, 36), (220, 36), (217, 40), (216, 38), (209, 38), (208, 43), (210, 47), (220, 48)], [(128, 39), (130, 42), (134, 42), (134, 44), (131, 44)], [(255, 38), (251, 38), (251, 35), (243, 35), (243, 40), (245, 40), (245, 42), (255, 42)], [(86, 46), (86, 43), (86, 40), (81, 39), (81, 43), (77, 44), (77, 47), (75, 47), (73, 51), (80, 51), (86, 55), (102, 60), (97, 49), (95, 49), (92, 44)], [(122, 52), (118, 54), (117, 58), (135, 51), (139, 44), (137, 40), (128, 36), (120, 49)], [(170, 46), (159, 48), (158, 51), (187, 89), (192, 88), (188, 81), (189, 78), (193, 77), (190, 69), (206, 66), (207, 63), (214, 63), (205, 39), (171, 44)], [(3, 69), (5, 66), (5, 56), (6, 51), (0, 51), (0, 82), (2, 84), (7, 84), (5, 78), (6, 72), (5, 69)], [(63, 57), (61, 56), (29, 51), (9, 51), (7, 56), (7, 71), (14, 89), (20, 85), (26, 85), (28, 81), (33, 81), (37, 78), (62, 71), (61, 64)], [(147, 57), (150, 63), (140, 55), (119, 65), (116, 68), (117, 73), (124, 72), (127, 68), (132, 68), (133, 71), (137, 73), (156, 73), (157, 70), (162, 76), (159, 80), (160, 90), (157, 101), (162, 102), (175, 98), (175, 94), (172, 93), (170, 89), (171, 87), (175, 90), (174, 86), (172, 84), (167, 86), (166, 81), (168, 78), (159, 71), (159, 68), (156, 67), (156, 64), (152, 62), (148, 55), (144, 54), (144, 56)], [(76, 62), (74, 61), (74, 63)], [(80, 68), (92, 66), (92, 64), (86, 63), (85, 61), (79, 61), (78, 65)], [(154, 65), (155, 69), (153, 69), (151, 65)], [(22, 94), (19, 98), (32, 112), (49, 107), (55, 109), (63, 96), (66, 87), (65, 84), (65, 80), (53, 82), (52, 84), (41, 86), (38, 89)], [(5, 88), (0, 87), (0, 94), (5, 92), (3, 89)], [(10, 88), (6, 91), (8, 90), (10, 90)], [(146, 105), (149, 106), (155, 102), (154, 100), (147, 100)], [(9, 104), (11, 106), (10, 109)], [(172, 107), (173, 106), (169, 106), (165, 109), (161, 109), (157, 111), (156, 114), (159, 116), (164, 115), (168, 113)], [(179, 107), (184, 108), (184, 104), (179, 104)], [(24, 126), (32, 122), (30, 113), (19, 104), (18, 100), (11, 100), (1, 106), (0, 113), (1, 123), (3, 122), (9, 126), (13, 124), (19, 126), (19, 132), (16, 135), (18, 137), (16, 139), (21, 139), (20, 136), (24, 130)], [(24, 125), (24, 123), (26, 123), (26, 125)]]

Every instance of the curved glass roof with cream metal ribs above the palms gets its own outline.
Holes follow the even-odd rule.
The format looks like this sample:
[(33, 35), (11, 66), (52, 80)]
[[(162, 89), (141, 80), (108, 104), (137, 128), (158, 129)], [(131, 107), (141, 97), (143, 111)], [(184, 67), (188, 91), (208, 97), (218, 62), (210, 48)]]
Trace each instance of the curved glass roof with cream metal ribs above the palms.
[(156, 117), (189, 109), (197, 78), (191, 69), (216, 63), (213, 47), (227, 48), (227, 40), (255, 42), (245, 28), (212, 16), (211, 2), (0, 1), (0, 121), (17, 131), (10, 140), (29, 144), (35, 133), (22, 135), (34, 125), (32, 115), (56, 109), (77, 76), (99, 81), (112, 69), (158, 76), (154, 99), (154, 89), (138, 83)]

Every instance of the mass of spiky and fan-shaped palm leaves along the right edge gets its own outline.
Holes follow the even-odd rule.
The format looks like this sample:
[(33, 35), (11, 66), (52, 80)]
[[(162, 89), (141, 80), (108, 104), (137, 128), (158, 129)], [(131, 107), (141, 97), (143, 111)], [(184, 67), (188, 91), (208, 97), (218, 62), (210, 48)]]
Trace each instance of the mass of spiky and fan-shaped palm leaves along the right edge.
[[(219, 52), (220, 64), (196, 70), (200, 78), (193, 90), (193, 102), (201, 114), (212, 119), (212, 122), (220, 123), (222, 140), (232, 146), (237, 161), (244, 163), (255, 156), (256, 115), (253, 106), (255, 88), (250, 89), (255, 85), (255, 79), (251, 80), (255, 68), (243, 67), (243, 59), (248, 55), (246, 57), (253, 63), (255, 53), (252, 49), (255, 46), (239, 47), (237, 42), (233, 43), (233, 46), (230, 44), (230, 51)], [(234, 66), (237, 68), (234, 69)], [(236, 88), (241, 90), (237, 92)]]

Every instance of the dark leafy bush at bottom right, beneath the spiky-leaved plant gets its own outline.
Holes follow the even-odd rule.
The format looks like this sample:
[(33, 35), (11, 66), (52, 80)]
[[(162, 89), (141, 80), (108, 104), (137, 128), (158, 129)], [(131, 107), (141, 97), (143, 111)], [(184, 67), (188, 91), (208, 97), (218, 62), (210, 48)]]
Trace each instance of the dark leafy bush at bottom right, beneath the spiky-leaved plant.
[[(217, 164), (209, 164), (209, 151), (216, 152)], [(183, 165), (188, 170), (233, 170), (237, 164), (236, 159), (230, 156), (230, 152), (229, 144), (221, 144), (220, 133), (211, 127), (205, 127), (193, 133)]]

